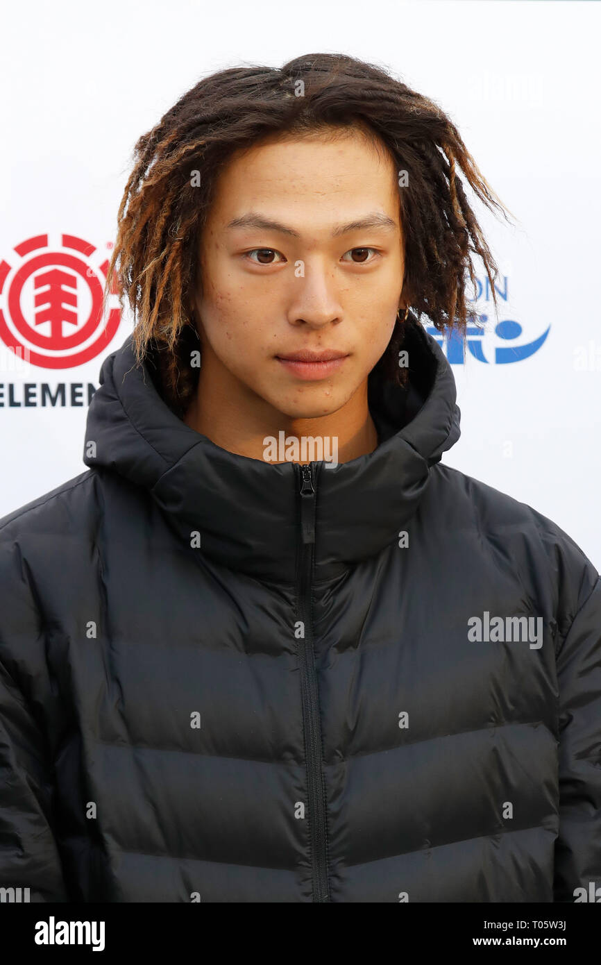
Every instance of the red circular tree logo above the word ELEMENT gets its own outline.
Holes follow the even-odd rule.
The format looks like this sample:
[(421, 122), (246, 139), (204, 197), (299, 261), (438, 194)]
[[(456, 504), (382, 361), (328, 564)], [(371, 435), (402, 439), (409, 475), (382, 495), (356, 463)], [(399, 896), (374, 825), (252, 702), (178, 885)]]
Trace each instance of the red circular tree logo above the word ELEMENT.
[[(107, 348), (121, 320), (119, 304), (102, 319), (108, 259), (93, 244), (39, 234), (15, 245), (17, 261), (0, 262), (0, 338), (42, 369), (73, 369)], [(107, 298), (118, 302), (115, 292)]]

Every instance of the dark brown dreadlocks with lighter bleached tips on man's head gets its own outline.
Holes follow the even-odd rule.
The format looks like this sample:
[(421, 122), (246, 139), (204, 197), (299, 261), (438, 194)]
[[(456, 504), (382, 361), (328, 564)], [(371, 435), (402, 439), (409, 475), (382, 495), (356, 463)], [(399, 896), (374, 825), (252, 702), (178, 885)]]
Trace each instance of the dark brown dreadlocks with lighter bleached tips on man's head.
[[(422, 317), (444, 333), (477, 319), (466, 297), (476, 289), (471, 255), (483, 262), (495, 310), (499, 271), (468, 204), (459, 172), (490, 210), (505, 207), (480, 174), (450, 118), (427, 97), (379, 67), (341, 54), (307, 54), (281, 69), (239, 67), (201, 80), (134, 148), (118, 213), (109, 290), (134, 317), (140, 364), (155, 352), (164, 400), (180, 417), (192, 400), (200, 348), (192, 297), (200, 290), (199, 244), (219, 172), (233, 152), (284, 136), (362, 131), (406, 173), (398, 203), (412, 314), (397, 317), (375, 370), (403, 385), (397, 363), (405, 324)], [(196, 177), (195, 177), (196, 176)], [(511, 213), (511, 212), (509, 212)], [(374, 370), (374, 371), (375, 371)]]

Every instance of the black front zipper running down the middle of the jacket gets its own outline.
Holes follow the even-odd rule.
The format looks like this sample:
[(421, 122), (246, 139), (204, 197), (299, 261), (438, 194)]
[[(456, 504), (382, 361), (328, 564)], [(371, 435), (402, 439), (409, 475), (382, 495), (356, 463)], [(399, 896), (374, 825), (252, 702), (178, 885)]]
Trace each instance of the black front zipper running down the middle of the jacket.
[(304, 637), (299, 641), (301, 696), (307, 784), (309, 789), (309, 823), (312, 842), (314, 901), (329, 901), (326, 854), (325, 795), (321, 773), (321, 724), (315, 671), (313, 626), (311, 621), (311, 577), (315, 542), (315, 485), (312, 464), (300, 465), (300, 560), (298, 579), (299, 616)]

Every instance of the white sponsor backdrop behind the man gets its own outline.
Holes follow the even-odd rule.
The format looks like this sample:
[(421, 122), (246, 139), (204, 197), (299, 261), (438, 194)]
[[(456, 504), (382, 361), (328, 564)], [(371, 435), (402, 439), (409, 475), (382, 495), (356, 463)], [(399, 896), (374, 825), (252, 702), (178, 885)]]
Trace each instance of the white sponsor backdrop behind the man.
[[(481, 357), (453, 363), (462, 436), (443, 461), (549, 516), (601, 567), (600, 31), (599, 4), (553, 0), (7, 5), (0, 308), (7, 324), (19, 304), (31, 318), (31, 259), (50, 286), (77, 264), (66, 328), (80, 344), (68, 352), (92, 347), (74, 366), (15, 367), (0, 334), (0, 516), (86, 468), (87, 386), (131, 320), (93, 354), (94, 333), (81, 341), (77, 320), (92, 305), (82, 273), (101, 279), (136, 139), (213, 70), (343, 52), (436, 100), (518, 219), (514, 230), (476, 203), (504, 275), (505, 331), (494, 331), (483, 291), (478, 310), (491, 324), (475, 340)], [(36, 321), (41, 333), (52, 323)], [(518, 360), (526, 345), (532, 354)], [(513, 361), (498, 354), (507, 347)], [(65, 404), (41, 404), (57, 390), (60, 402), (61, 386)]]

